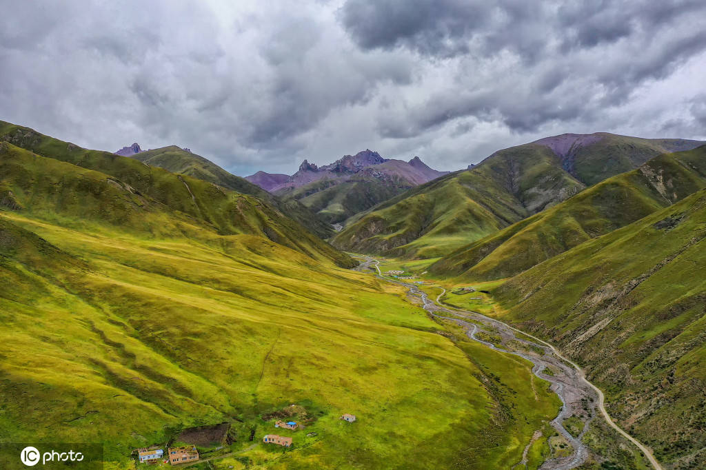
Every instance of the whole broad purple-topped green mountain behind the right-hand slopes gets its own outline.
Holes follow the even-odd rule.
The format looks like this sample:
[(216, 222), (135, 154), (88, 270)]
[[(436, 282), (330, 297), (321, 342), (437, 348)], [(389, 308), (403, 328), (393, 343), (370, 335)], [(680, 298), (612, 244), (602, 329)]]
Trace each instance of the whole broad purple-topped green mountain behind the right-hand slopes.
[[(403, 258), (448, 255), (566, 200), (587, 185), (634, 169), (664, 152), (700, 144), (597, 133), (558, 135), (510, 147), (472, 169), (413, 188), (350, 219), (333, 243), (345, 250)], [(496, 212), (507, 214), (506, 207), (513, 207), (512, 214), (497, 217)], [(420, 213), (425, 217), (418, 217)]]

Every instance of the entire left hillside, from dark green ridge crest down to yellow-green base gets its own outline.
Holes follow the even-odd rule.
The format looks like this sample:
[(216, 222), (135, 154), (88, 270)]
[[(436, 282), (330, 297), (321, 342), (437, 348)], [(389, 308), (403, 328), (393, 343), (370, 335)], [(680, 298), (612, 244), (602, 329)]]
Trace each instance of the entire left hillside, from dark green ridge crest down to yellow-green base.
[[(460, 349), (261, 200), (28, 138), (0, 144), (0, 442), (103, 442), (124, 469), (229, 421), (215, 468), (509, 468), (556, 415), (528, 363)], [(315, 419), (264, 445), (263, 414), (289, 404)]]

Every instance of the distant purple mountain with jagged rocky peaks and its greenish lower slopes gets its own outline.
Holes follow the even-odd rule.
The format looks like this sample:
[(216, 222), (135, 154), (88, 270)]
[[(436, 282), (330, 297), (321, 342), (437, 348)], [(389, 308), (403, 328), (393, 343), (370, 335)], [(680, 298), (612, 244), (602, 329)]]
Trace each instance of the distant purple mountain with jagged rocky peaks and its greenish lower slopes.
[(299, 201), (325, 222), (337, 224), (445, 174), (448, 171), (431, 169), (419, 157), (409, 162), (385, 159), (366, 149), (322, 167), (305, 159), (292, 176), (258, 171), (246, 179), (277, 196)]

